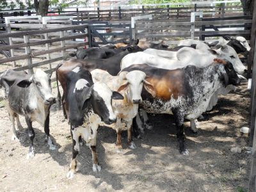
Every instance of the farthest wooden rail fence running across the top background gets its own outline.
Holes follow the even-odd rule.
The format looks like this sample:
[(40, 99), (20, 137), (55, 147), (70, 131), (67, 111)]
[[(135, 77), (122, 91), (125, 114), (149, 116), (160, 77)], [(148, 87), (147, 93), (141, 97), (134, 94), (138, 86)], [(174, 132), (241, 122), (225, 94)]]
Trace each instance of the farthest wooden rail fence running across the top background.
[[(141, 6), (141, 8), (131, 9), (131, 8), (121, 8), (120, 6), (116, 9), (109, 10), (79, 10), (76, 8), (74, 11), (56, 11), (48, 12), (49, 15), (60, 14), (60, 15), (70, 15), (77, 16), (80, 19), (87, 20), (130, 20), (131, 17), (138, 16), (141, 14), (152, 13), (159, 19), (169, 19), (169, 18), (188, 18), (191, 12), (204, 12), (204, 17), (232, 17), (237, 15), (243, 15), (243, 7), (241, 5), (225, 6), (225, 3), (219, 3), (214, 6), (201, 6), (200, 4), (191, 4), (184, 6), (160, 6), (157, 8)], [(23, 15), (33, 15), (35, 12), (31, 10), (19, 12), (8, 13), (8, 11), (0, 12), (0, 18), (10, 17), (10, 16), (23, 16)]]

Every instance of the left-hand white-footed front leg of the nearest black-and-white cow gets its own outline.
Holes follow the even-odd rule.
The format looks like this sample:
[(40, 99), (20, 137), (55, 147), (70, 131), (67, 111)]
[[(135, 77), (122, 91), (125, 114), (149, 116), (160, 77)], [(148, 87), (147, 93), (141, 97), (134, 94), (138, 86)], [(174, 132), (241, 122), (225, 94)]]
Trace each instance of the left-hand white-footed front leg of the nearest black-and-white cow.
[[(72, 125), (71, 125), (72, 126)], [(73, 130), (72, 130), (73, 129)], [(68, 179), (72, 179), (76, 173), (76, 157), (80, 150), (79, 148), (79, 135), (76, 132), (76, 128), (71, 128), (71, 138), (72, 138), (72, 161), (70, 163), (69, 172), (67, 173)]]

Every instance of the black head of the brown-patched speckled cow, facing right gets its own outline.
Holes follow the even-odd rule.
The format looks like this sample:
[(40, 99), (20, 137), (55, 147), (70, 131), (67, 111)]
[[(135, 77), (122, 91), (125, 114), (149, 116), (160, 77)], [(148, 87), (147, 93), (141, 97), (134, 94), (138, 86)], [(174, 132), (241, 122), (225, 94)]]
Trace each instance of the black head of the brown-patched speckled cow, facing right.
[(241, 79), (237, 76), (232, 63), (227, 60), (220, 59), (214, 59), (214, 62), (223, 64), (225, 68), (225, 73), (223, 74), (225, 86), (227, 86), (228, 84), (239, 85), (241, 83)]

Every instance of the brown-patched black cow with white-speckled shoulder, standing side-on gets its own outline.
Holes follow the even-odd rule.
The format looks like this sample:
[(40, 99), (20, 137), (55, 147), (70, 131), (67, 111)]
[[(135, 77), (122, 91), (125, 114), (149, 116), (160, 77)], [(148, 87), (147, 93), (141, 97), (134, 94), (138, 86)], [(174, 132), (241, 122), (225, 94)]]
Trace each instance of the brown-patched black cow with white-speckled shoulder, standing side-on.
[(143, 90), (141, 107), (148, 113), (174, 115), (180, 154), (188, 155), (184, 146), (184, 118), (195, 120), (209, 106), (212, 95), (228, 84), (240, 84), (232, 64), (215, 59), (205, 68), (189, 65), (176, 70), (131, 65), (123, 71), (141, 70), (154, 90)]

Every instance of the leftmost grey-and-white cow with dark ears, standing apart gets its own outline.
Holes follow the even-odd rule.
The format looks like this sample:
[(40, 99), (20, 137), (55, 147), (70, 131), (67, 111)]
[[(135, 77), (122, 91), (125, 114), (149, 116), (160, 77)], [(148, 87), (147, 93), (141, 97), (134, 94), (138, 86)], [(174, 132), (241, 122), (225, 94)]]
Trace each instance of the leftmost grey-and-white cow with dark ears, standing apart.
[(22, 115), (25, 116), (31, 141), (27, 157), (35, 156), (33, 147), (35, 132), (32, 127), (32, 122), (34, 121), (44, 127), (49, 148), (54, 150), (56, 147), (52, 143), (49, 134), (49, 110), (55, 102), (51, 93), (50, 76), (40, 69), (36, 70), (33, 75), (29, 75), (24, 71), (7, 70), (1, 76), (0, 83), (6, 91), (6, 107), (12, 122), (12, 140), (18, 140), (15, 130), (15, 118), (17, 127), (22, 128), (19, 122), (19, 115)]

